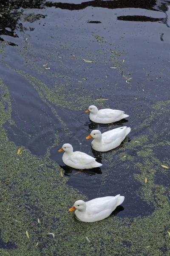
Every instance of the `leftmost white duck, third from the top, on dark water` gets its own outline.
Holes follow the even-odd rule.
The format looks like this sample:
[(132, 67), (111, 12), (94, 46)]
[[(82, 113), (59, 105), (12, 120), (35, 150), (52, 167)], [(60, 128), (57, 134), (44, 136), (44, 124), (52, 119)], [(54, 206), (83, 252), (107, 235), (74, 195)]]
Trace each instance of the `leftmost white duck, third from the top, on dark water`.
[(96, 158), (89, 156), (86, 153), (75, 151), (69, 143), (62, 145), (59, 152), (65, 151), (62, 156), (62, 161), (67, 165), (75, 169), (92, 169), (102, 166), (101, 163), (96, 162)]

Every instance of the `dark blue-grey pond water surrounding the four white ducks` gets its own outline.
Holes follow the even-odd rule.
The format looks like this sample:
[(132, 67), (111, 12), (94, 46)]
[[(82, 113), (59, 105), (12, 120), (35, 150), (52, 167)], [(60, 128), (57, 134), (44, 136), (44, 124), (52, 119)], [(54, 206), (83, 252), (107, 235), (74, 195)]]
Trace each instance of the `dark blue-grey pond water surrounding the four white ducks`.
[[(69, 215), (67, 208), (82, 197), (90, 200), (108, 195), (125, 196), (125, 201), (120, 211), (116, 212), (116, 217), (119, 216), (126, 222), (126, 228), (130, 227), (133, 235), (130, 238), (125, 235), (123, 241), (121, 240), (124, 249), (121, 251), (118, 245), (114, 245), (116, 240), (113, 236), (113, 240), (108, 242), (109, 244), (113, 242), (113, 247), (109, 247), (111, 251), (108, 248), (105, 250), (108, 245), (104, 242), (100, 251), (95, 248), (95, 244), (92, 244), (91, 254), (81, 251), (81, 255), (94, 255), (93, 253), (150, 256), (161, 256), (167, 253), (166, 255), (169, 255), (167, 243), (163, 239), (168, 238), (167, 231), (170, 231), (168, 221), (164, 224), (164, 228), (156, 225), (158, 230), (152, 230), (155, 226), (150, 224), (150, 232), (153, 231), (150, 235), (151, 241), (155, 242), (155, 233), (162, 232), (162, 237), (158, 238), (160, 244), (156, 245), (155, 242), (154, 247), (147, 237), (142, 238), (144, 234), (149, 234), (148, 230), (143, 229), (142, 224), (136, 227), (140, 231), (136, 235), (136, 231), (130, 226), (130, 223), (138, 222), (138, 219), (144, 222), (148, 218), (155, 223), (160, 220), (160, 215), (164, 216), (165, 212), (169, 211), (167, 208), (170, 196), (169, 5), (170, 1), (166, 0), (94, 0), (82, 3), (78, 0), (1, 1), (0, 87), (2, 97), (6, 98), (9, 93), (8, 106), (4, 105), (7, 101), (1, 102), (3, 110), (10, 112), (10, 117), (6, 115), (6, 119), (2, 119), (1, 126), (5, 128), (9, 142), (13, 142), (11, 145), (15, 145), (17, 149), (24, 148), (21, 157), (29, 154), (31, 159), (30, 165), (27, 165), (30, 168), (29, 171), (22, 173), (25, 180), (23, 183), (27, 184), (23, 185), (22, 179), (20, 182), (17, 180), (19, 173), (8, 176), (11, 164), (9, 169), (7, 166), (11, 158), (8, 151), (6, 153), (2, 151), (2, 159), (5, 154), (9, 158), (6, 162), (4, 160), (6, 170), (4, 166), (1, 168), (1, 182), (8, 178), (10, 198), (17, 198), (20, 193), (22, 194), (25, 200), (20, 199), (22, 209), (25, 209), (24, 202), (30, 202), (30, 209), (34, 209), (32, 210), (34, 214), (28, 212), (31, 218), (30, 223), (34, 223), (34, 218), (38, 218), (40, 212), (44, 216), (49, 211), (46, 228), (51, 227), (53, 230), (60, 228), (62, 239), (65, 237), (68, 241), (63, 245), (62, 239), (58, 240), (59, 247), (63, 246), (59, 253), (56, 252), (56, 244), (50, 245), (48, 240), (41, 240), (41, 246), (33, 249), (37, 244), (35, 235), (37, 230), (34, 230), (34, 244), (30, 249), (32, 255), (74, 255), (78, 246), (81, 247), (81, 243), (79, 245), (78, 242), (77, 245), (79, 237), (87, 235), (87, 233), (74, 234), (73, 239), (70, 235), (68, 236), (68, 232), (62, 233), (65, 224), (58, 224), (59, 227), (55, 224), (61, 220), (59, 215), (54, 217), (57, 213), (53, 211), (53, 207), (55, 208), (57, 202), (62, 201), (65, 194), (64, 181), (60, 192), (54, 192), (61, 185), (57, 185), (62, 178), (61, 170), (63, 170), (62, 180), (68, 178), (67, 193), (63, 199), (66, 208), (62, 203), (58, 203), (61, 209), (63, 208), (62, 223), (65, 223), (67, 218), (73, 222), (73, 215)], [(85, 113), (89, 105), (119, 109), (125, 111), (129, 117), (114, 123), (112, 127), (111, 124), (96, 124), (91, 122), (89, 114)], [(130, 127), (131, 132), (119, 148), (112, 151), (96, 152), (91, 149), (91, 140), (85, 139), (93, 129), (105, 132), (121, 126)], [(63, 153), (58, 152), (64, 143), (70, 143), (74, 151), (95, 156), (102, 166), (82, 172), (65, 166), (62, 162)], [(34, 164), (31, 161), (34, 157), (35, 161), (42, 160), (42, 164), (47, 166), (47, 169), (43, 170), (44, 176), (40, 169), (35, 170), (36, 175), (32, 173)], [(11, 162), (15, 166), (15, 162), (13, 160)], [(26, 159), (23, 161), (22, 168), (27, 169), (24, 164), (26, 165)], [(18, 170), (20, 166), (21, 164)], [(54, 172), (53, 175), (49, 171), (51, 169)], [(9, 171), (9, 173), (11, 175), (12, 172)], [(45, 186), (49, 185), (52, 189), (53, 185), (50, 184), (54, 183), (51, 194), (47, 198), (49, 187), (46, 188), (47, 191), (45, 187), (43, 188), (42, 176)], [(30, 185), (34, 185), (33, 179), (37, 179), (37, 188)], [(78, 189), (81, 194), (74, 189)], [(34, 200), (29, 198), (28, 191), (30, 196), (35, 192), (39, 203), (35, 204)], [(8, 190), (2, 197), (3, 203), (6, 193)], [(54, 202), (50, 204), (48, 200), (52, 199), (49, 198), (53, 198)], [(49, 202), (49, 208), (46, 207), (47, 202)], [(12, 206), (8, 208), (12, 209)], [(164, 214), (160, 212), (161, 210)], [(23, 215), (23, 219), (19, 221), (26, 223), (25, 218), (26, 216)], [(57, 218), (57, 221), (53, 218)], [(13, 219), (16, 220), (17, 217)], [(75, 220), (74, 223), (76, 223)], [(160, 223), (163, 223), (163, 219)], [(11, 228), (12, 225), (11, 223)], [(22, 225), (21, 233), (28, 229), (26, 224)], [(102, 225), (105, 228), (105, 224)], [(106, 232), (111, 234), (107, 225)], [(120, 221), (117, 225), (120, 233), (130, 233), (123, 230), (125, 223), (121, 224)], [(146, 226), (149, 227), (149, 224)], [(16, 239), (19, 235), (8, 236), (8, 232), (4, 231), (8, 229), (7, 227), (8, 225), (4, 225), (2, 229), (0, 227), (1, 255), (7, 255), (5, 251), (11, 250), (11, 245), (8, 246), (8, 243), (14, 244), (13, 249), (16, 255), (26, 255), (23, 252), (22, 242)], [(44, 229), (45, 227), (42, 228), (42, 233), (45, 232)], [(24, 236), (26, 236), (25, 233)], [(137, 246), (134, 249), (133, 243), (140, 244), (140, 236), (143, 241), (146, 240), (146, 244), (144, 242), (141, 249)], [(138, 242), (135, 240), (136, 237), (139, 237)], [(101, 239), (105, 241), (104, 237)], [(72, 240), (76, 242), (72, 243)], [(130, 244), (127, 244), (128, 242)], [(23, 243), (28, 248), (25, 240)], [(51, 248), (49, 252), (51, 254), (48, 254), (48, 246)], [(73, 250), (70, 254), (65, 254), (67, 246), (71, 246)], [(88, 250), (91, 245), (86, 243), (83, 246), (83, 250)]]

